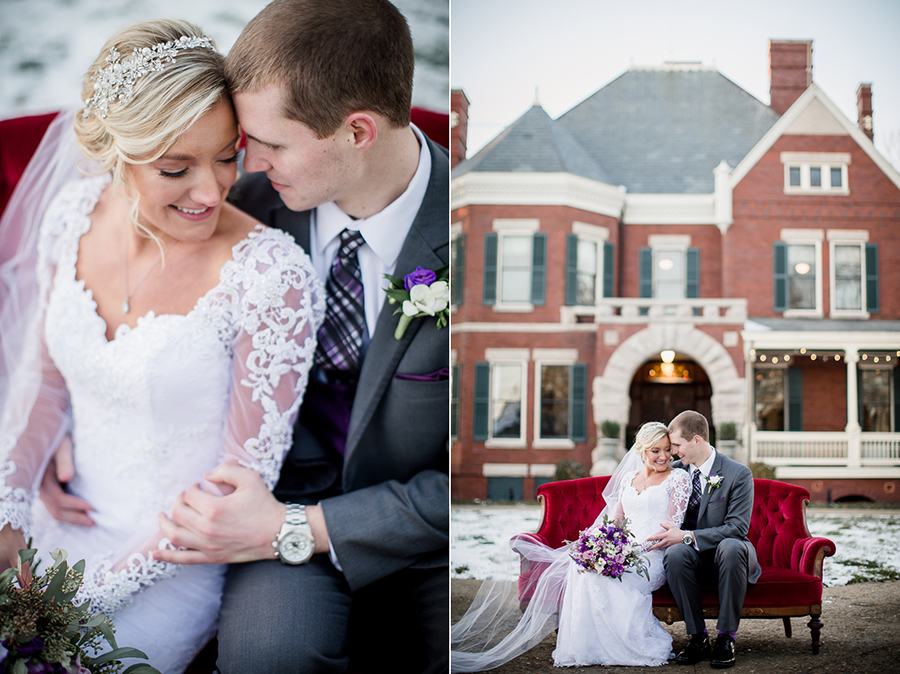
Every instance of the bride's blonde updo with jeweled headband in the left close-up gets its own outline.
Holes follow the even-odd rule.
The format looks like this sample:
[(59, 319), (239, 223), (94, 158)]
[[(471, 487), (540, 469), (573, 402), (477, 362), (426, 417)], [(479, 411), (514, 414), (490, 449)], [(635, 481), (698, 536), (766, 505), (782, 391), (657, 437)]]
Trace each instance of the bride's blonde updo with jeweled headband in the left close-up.
[[(139, 75), (128, 65), (113, 70), (110, 59), (127, 64), (135, 49), (145, 55)], [(91, 162), (91, 173), (109, 172), (114, 184), (128, 187), (127, 164), (159, 159), (223, 96), (225, 58), (199, 27), (165, 19), (127, 26), (103, 45), (84, 76), (85, 107), (74, 121), (78, 146)], [(149, 235), (137, 220), (138, 195), (129, 194), (131, 219)]]

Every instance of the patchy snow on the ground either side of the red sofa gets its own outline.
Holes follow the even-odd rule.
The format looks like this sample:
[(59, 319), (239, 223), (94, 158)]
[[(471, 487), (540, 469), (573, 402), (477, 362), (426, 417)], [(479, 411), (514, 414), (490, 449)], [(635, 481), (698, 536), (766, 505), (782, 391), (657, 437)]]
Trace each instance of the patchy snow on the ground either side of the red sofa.
[[(513, 579), (518, 557), (509, 549), (514, 534), (537, 531), (541, 509), (533, 505), (459, 506), (451, 512), (452, 578)], [(807, 511), (813, 536), (834, 542), (825, 558), (826, 587), (866, 580), (900, 579), (900, 511)]]

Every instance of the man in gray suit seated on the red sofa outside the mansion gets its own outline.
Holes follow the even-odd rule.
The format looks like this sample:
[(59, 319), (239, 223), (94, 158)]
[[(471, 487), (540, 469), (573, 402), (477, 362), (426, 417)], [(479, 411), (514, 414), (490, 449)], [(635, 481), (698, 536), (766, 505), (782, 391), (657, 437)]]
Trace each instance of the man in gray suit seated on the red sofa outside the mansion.
[[(665, 548), (669, 588), (691, 635), (675, 658), (693, 665), (711, 655), (718, 669), (734, 666), (734, 643), (747, 583), (759, 580), (756, 550), (747, 540), (753, 511), (753, 475), (743, 464), (719, 454), (709, 444), (709, 424), (698, 412), (685, 411), (669, 424), (672, 466), (691, 475), (692, 491), (684, 530), (663, 524), (663, 534), (650, 536)], [(710, 648), (700, 603), (700, 584), (719, 589), (718, 636)]]

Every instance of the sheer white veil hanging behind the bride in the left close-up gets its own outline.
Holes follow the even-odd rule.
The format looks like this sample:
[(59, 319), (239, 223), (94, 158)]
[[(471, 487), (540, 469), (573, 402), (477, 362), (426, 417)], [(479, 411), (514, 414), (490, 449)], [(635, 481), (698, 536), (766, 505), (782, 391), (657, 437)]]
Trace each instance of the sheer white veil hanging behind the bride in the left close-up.
[[(40, 225), (60, 188), (81, 176), (84, 160), (75, 143), (76, 112), (50, 124), (0, 217), (0, 460), (5, 461), (25, 428), (42, 385)], [(46, 287), (46, 286), (44, 286)], [(66, 395), (65, 391), (48, 392)], [(65, 429), (55, 429), (56, 442)]]

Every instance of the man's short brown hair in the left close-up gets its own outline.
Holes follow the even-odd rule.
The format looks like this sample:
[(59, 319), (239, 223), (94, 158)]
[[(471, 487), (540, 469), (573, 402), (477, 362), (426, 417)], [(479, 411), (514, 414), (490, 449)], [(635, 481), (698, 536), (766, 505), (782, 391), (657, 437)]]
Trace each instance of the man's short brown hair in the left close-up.
[(232, 94), (284, 89), (282, 115), (319, 138), (353, 112), (409, 125), (415, 56), (409, 25), (387, 0), (275, 0), (228, 53)]

